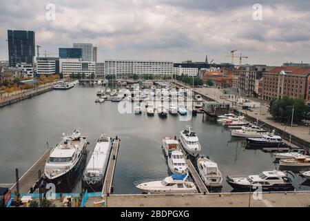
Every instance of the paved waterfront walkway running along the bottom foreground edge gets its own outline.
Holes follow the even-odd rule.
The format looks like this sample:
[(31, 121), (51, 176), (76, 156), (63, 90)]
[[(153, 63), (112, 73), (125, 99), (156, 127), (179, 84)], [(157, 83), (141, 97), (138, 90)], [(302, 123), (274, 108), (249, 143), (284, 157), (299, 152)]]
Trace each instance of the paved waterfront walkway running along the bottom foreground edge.
[[(107, 207), (307, 207), (310, 192), (287, 193), (209, 193), (193, 195), (110, 195)], [(261, 199), (261, 200), (257, 200)], [(89, 198), (86, 207), (94, 206), (101, 198)]]

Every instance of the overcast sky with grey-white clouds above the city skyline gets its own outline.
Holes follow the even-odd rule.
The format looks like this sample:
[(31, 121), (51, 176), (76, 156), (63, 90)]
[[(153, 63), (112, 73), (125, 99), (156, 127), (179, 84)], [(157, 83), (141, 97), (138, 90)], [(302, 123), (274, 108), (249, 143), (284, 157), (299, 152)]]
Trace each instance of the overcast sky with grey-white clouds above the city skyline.
[[(56, 18), (46, 19), (54, 3)], [(254, 3), (262, 5), (255, 21)], [(8, 59), (7, 30), (34, 30), (41, 52), (74, 42), (98, 47), (104, 59), (310, 63), (310, 1), (252, 0), (0, 0), (0, 59)], [(236, 61), (237, 62), (237, 61)]]

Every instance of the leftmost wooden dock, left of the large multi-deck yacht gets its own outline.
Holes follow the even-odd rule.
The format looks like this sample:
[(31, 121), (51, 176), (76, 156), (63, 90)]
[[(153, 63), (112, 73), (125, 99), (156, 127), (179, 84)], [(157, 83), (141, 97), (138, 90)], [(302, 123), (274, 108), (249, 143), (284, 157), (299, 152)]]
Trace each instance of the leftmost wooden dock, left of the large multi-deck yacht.
[[(48, 157), (50, 157), (50, 149), (43, 153), (39, 160), (19, 178), (19, 193), (29, 193), (30, 188), (35, 186), (36, 182), (39, 180), (38, 171), (41, 170), (41, 174), (43, 175), (45, 162), (48, 160)], [(14, 192), (16, 190), (16, 183), (10, 189)]]

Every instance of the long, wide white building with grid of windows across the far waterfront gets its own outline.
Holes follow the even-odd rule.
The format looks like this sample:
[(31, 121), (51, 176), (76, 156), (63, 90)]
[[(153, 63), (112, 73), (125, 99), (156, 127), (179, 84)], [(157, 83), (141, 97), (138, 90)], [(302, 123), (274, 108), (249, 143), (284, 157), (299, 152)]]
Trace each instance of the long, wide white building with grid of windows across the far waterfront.
[(105, 75), (126, 78), (128, 75), (173, 75), (172, 61), (106, 60)]

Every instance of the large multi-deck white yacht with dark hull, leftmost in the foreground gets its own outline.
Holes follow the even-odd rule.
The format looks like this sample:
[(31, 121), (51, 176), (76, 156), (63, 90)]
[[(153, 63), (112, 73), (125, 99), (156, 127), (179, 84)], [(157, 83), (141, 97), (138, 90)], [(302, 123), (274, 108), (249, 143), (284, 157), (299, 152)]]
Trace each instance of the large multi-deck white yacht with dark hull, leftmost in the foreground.
[(62, 140), (50, 152), (50, 157), (45, 162), (44, 175), (48, 182), (61, 184), (63, 180), (70, 180), (79, 167), (85, 155), (87, 137), (82, 136), (78, 130), (70, 135), (63, 133)]

